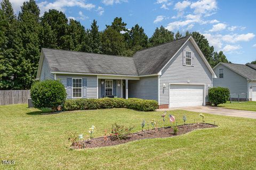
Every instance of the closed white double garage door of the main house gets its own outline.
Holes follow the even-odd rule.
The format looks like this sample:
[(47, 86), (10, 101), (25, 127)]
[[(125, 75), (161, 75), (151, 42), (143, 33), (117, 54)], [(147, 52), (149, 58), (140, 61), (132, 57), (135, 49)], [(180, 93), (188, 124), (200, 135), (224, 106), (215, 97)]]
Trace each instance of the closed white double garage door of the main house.
[(204, 86), (194, 84), (171, 84), (170, 107), (202, 106)]

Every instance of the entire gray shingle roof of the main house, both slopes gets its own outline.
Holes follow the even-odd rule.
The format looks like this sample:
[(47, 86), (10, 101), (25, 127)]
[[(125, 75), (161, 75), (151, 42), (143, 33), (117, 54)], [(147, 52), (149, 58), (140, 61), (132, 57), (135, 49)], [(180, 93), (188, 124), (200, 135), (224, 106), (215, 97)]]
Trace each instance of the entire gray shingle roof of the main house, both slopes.
[(42, 48), (52, 72), (157, 74), (190, 37), (140, 50), (133, 57)]

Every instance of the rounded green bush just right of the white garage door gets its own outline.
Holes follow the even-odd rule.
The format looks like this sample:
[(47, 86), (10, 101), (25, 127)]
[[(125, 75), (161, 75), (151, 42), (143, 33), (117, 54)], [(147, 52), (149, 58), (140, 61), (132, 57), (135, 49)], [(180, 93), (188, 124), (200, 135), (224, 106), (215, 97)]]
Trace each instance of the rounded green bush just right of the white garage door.
[(228, 88), (213, 87), (209, 89), (209, 101), (214, 105), (226, 103), (229, 99), (230, 92)]

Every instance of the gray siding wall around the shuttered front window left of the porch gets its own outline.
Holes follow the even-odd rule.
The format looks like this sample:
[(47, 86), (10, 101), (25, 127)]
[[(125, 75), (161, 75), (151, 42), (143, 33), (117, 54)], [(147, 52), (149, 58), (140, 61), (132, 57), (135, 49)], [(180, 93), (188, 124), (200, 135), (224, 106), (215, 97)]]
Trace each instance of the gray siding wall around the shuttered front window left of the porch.
[(57, 74), (57, 80), (67, 88), (67, 78), (85, 78), (87, 80), (86, 98), (97, 98), (97, 75), (66, 75)]

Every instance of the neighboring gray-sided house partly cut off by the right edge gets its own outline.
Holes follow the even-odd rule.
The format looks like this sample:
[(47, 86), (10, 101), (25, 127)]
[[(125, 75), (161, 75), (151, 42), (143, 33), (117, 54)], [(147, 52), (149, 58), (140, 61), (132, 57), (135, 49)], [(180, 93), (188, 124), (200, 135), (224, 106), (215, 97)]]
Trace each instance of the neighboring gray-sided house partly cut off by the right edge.
[(256, 101), (256, 65), (219, 63), (213, 68), (217, 74), (213, 86), (229, 89), (231, 98)]

